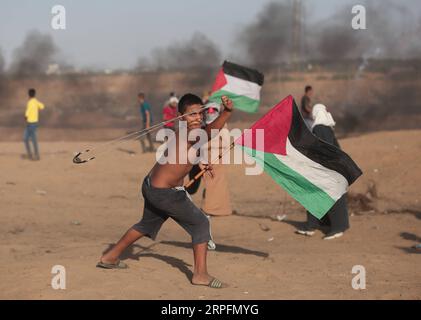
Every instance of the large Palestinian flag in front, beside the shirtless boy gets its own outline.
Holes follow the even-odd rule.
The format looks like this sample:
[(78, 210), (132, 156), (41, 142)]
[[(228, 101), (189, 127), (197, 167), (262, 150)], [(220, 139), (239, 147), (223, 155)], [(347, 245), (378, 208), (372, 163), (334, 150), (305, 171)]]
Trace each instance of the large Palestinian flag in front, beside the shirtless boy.
[[(264, 130), (264, 144), (256, 140), (258, 129)], [(318, 219), (362, 174), (345, 152), (310, 132), (292, 96), (273, 107), (235, 143)]]

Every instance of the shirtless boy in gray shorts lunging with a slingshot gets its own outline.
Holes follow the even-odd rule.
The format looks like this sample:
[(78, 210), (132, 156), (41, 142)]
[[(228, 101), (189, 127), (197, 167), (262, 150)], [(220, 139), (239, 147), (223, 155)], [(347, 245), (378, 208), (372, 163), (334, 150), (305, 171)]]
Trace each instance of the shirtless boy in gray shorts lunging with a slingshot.
[[(215, 121), (204, 127), (208, 139), (211, 138), (211, 130), (220, 130), (233, 111), (232, 100), (226, 96), (223, 96), (221, 100), (224, 110)], [(190, 93), (184, 95), (179, 101), (178, 111), (181, 115), (185, 114), (182, 120), (187, 123), (187, 132), (202, 128), (203, 103), (199, 97)], [(179, 132), (176, 132), (175, 139), (177, 146), (179, 146)], [(194, 143), (187, 141), (187, 150)], [(168, 150), (169, 152), (176, 152), (176, 163), (160, 164), (157, 162), (143, 181), (142, 194), (145, 207), (142, 220), (133, 225), (118, 243), (101, 257), (97, 267), (106, 269), (127, 268), (127, 265), (119, 260), (123, 251), (143, 236), (155, 239), (162, 224), (170, 217), (192, 237), (194, 255), (192, 284), (205, 285), (211, 288), (225, 287), (221, 281), (210, 276), (207, 271), (207, 244), (211, 240), (209, 220), (193, 204), (185, 189), (180, 188), (183, 185), (184, 177), (190, 172), (193, 164), (178, 163), (178, 159), (181, 158), (180, 152), (186, 152), (186, 150), (183, 151), (181, 148)], [(183, 158), (188, 159), (188, 157)]]

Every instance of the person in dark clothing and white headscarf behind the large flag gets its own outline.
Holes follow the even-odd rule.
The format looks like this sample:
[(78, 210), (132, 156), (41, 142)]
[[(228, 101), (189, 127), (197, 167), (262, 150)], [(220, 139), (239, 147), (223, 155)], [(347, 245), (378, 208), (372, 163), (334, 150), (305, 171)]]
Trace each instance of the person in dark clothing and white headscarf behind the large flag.
[[(333, 132), (335, 121), (332, 115), (326, 111), (326, 107), (322, 104), (316, 104), (312, 110), (312, 117), (314, 119), (312, 131), (319, 139), (334, 145), (340, 149), (338, 140)], [(348, 209), (346, 203), (346, 194), (344, 194), (323, 217), (318, 220), (307, 211), (307, 223), (304, 229), (297, 230), (298, 234), (312, 236), (316, 229), (322, 226), (328, 226), (329, 232), (324, 237), (325, 240), (339, 238), (344, 231), (349, 229)]]

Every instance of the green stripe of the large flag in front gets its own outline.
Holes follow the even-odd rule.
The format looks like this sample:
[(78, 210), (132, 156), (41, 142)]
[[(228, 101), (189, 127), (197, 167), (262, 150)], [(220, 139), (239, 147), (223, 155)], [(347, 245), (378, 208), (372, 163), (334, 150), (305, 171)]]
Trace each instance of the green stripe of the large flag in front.
[(326, 192), (302, 175), (286, 166), (272, 153), (242, 148), (254, 158), (273, 180), (281, 185), (295, 200), (318, 219), (321, 219), (335, 204)]

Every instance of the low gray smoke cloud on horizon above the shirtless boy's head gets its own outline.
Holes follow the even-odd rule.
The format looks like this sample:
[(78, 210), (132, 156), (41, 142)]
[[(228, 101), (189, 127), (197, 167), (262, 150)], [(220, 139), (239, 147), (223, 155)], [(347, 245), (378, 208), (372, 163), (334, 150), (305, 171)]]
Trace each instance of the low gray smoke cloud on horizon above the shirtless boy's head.
[(166, 48), (157, 48), (148, 59), (139, 59), (139, 68), (151, 65), (155, 69), (188, 69), (215, 67), (221, 62), (221, 53), (209, 38), (202, 33), (182, 43), (174, 43)]

